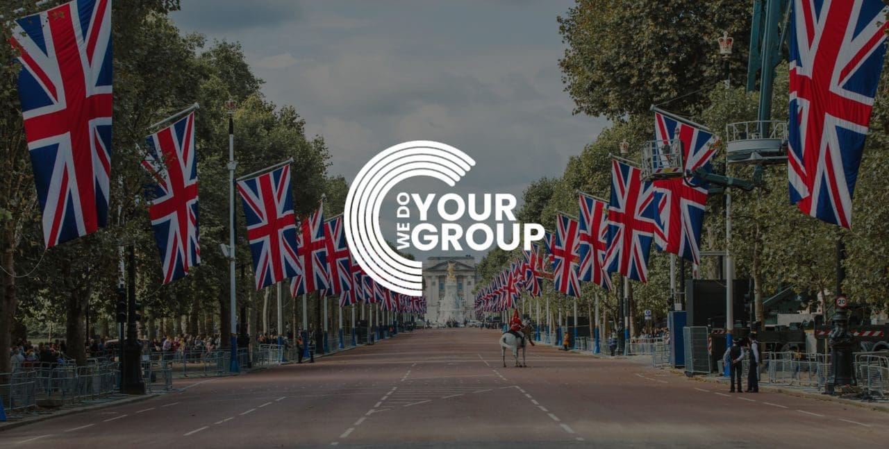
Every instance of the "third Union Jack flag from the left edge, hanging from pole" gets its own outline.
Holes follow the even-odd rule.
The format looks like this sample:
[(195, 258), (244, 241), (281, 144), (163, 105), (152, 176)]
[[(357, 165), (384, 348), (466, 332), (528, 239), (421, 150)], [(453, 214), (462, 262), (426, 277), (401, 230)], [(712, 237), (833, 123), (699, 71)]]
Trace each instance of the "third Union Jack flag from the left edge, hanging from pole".
[(256, 290), (299, 275), (290, 165), (239, 180), (237, 190), (244, 203)]

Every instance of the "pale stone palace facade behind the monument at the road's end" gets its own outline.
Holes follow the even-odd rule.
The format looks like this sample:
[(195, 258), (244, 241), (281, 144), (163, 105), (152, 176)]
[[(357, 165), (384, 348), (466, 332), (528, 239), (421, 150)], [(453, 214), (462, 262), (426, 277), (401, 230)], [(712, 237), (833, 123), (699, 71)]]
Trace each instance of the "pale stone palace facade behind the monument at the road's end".
[(429, 257), (423, 263), (423, 277), (426, 281), (426, 319), (435, 323), (442, 299), (445, 298), (445, 280), (448, 274), (448, 263), (453, 263), (453, 274), (457, 278), (457, 301), (463, 310), (464, 319), (472, 319), (475, 315), (475, 293), (477, 282), (476, 259), (466, 256)]

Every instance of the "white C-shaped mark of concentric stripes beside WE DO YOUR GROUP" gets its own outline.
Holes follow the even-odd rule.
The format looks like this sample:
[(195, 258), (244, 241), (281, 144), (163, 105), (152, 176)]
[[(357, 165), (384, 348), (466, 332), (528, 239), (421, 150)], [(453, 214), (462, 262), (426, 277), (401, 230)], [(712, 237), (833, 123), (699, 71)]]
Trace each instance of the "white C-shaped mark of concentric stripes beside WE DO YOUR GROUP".
[(343, 218), (348, 247), (364, 272), (389, 290), (423, 294), (423, 264), (398, 255), (380, 233), (380, 205), (402, 180), (429, 176), (450, 187), (476, 164), (457, 148), (413, 140), (387, 148), (364, 165), (348, 189)]

